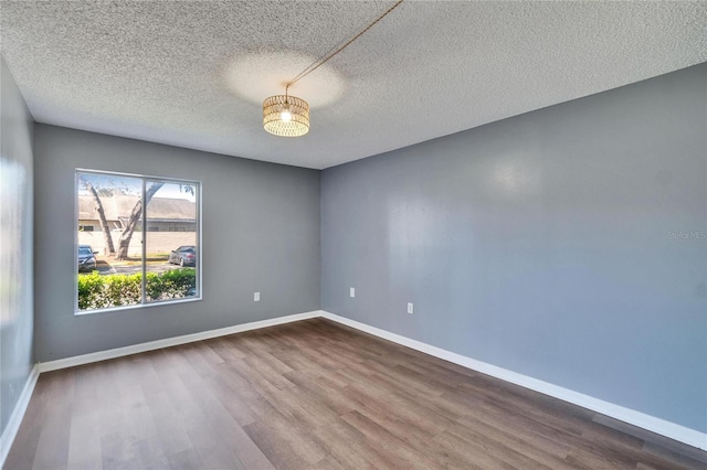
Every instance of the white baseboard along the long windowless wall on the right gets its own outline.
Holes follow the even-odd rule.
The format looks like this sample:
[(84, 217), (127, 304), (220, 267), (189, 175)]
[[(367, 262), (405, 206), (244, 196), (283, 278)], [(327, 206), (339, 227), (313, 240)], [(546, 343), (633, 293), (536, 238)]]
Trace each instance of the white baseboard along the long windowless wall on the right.
[(410, 338), (401, 337), (400, 334), (391, 333), (376, 327), (360, 323), (356, 320), (339, 317), (335, 313), (321, 311), (321, 317), (345, 324), (347, 327), (355, 328), (374, 337), (392, 341), (393, 343), (398, 343), (403, 346), (423, 352), (425, 354), (443, 359), (454, 364), (482, 372), (484, 374), (500, 378), (506, 382), (510, 382), (511, 384), (520, 385), (521, 387), (540, 392), (545, 395), (549, 395), (555, 398), (579, 405), (583, 408), (591, 409), (592, 412), (601, 413), (602, 415), (606, 415), (621, 421), (639, 426), (652, 432), (656, 432), (671, 439), (687, 444), (689, 446), (697, 447), (698, 449), (707, 450), (707, 434), (705, 432), (699, 432), (695, 429), (690, 429), (675, 423), (666, 421), (665, 419), (656, 418), (655, 416), (636, 412), (635, 409), (614, 405), (612, 403), (604, 402), (603, 399), (594, 398), (589, 395), (571, 391), (569, 388), (539, 381), (527, 375), (518, 374), (517, 372), (508, 371), (496, 365), (476, 361), (462, 354), (446, 351), (441, 348), (423, 343), (421, 341), (411, 340)]

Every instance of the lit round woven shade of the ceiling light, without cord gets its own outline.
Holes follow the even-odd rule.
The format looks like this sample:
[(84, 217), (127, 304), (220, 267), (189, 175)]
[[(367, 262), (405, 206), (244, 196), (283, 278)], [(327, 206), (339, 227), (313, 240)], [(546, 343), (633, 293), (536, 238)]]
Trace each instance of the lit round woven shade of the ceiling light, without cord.
[(295, 96), (271, 96), (263, 102), (263, 127), (275, 136), (304, 136), (309, 131), (309, 105)]

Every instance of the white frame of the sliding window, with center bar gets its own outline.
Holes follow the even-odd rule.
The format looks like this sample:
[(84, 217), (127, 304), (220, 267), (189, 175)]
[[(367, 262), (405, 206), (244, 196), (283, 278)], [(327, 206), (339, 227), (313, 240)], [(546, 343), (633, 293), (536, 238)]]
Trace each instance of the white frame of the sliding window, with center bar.
[[(197, 295), (196, 296), (191, 296), (191, 297), (184, 297), (184, 298), (179, 298), (179, 299), (166, 299), (166, 300), (147, 300), (147, 289), (146, 289), (146, 281), (147, 281), (147, 276), (146, 276), (146, 255), (147, 255), (147, 218), (146, 218), (146, 205), (145, 203), (141, 204), (141, 214), (140, 214), (140, 224), (141, 224), (141, 234), (143, 234), (143, 250), (141, 250), (141, 292), (140, 292), (140, 302), (139, 303), (134, 303), (130, 306), (117, 306), (117, 307), (106, 307), (106, 308), (101, 308), (101, 309), (93, 309), (93, 310), (81, 310), (78, 308), (78, 276), (81, 275), (78, 273), (78, 269), (76, 268), (76, 253), (78, 253), (78, 245), (80, 245), (80, 241), (78, 241), (78, 227), (80, 227), (80, 220), (78, 220), (78, 181), (80, 181), (80, 173), (91, 173), (91, 174), (101, 174), (101, 175), (112, 175), (112, 177), (125, 177), (125, 178), (134, 178), (134, 179), (139, 179), (140, 180), (140, 201), (144, 202), (145, 201), (145, 191), (146, 191), (146, 182), (150, 181), (150, 182), (163, 182), (163, 183), (171, 183), (171, 184), (189, 184), (189, 185), (193, 185), (194, 186), (194, 195), (197, 199), (197, 203), (196, 203), (196, 237), (197, 237), (197, 263), (194, 265), (194, 268), (197, 269)], [(165, 306), (165, 305), (171, 305), (171, 303), (183, 303), (183, 302), (197, 302), (197, 301), (201, 301), (203, 300), (203, 293), (202, 293), (202, 249), (201, 249), (201, 245), (202, 245), (202, 221), (201, 221), (201, 214), (202, 214), (202, 183), (201, 181), (198, 180), (188, 180), (188, 179), (181, 179), (181, 178), (171, 178), (171, 177), (152, 177), (152, 175), (147, 175), (147, 174), (137, 174), (137, 173), (126, 173), (126, 172), (122, 172), (122, 171), (108, 171), (108, 170), (95, 170), (95, 169), (86, 169), (86, 168), (76, 168), (74, 170), (74, 316), (84, 316), (84, 314), (95, 314), (95, 313), (108, 313), (108, 312), (116, 312), (116, 311), (122, 311), (122, 310), (135, 310), (135, 309), (143, 309), (143, 308), (149, 308), (149, 307), (156, 307), (156, 306)], [(102, 229), (96, 231), (95, 233), (101, 233)]]

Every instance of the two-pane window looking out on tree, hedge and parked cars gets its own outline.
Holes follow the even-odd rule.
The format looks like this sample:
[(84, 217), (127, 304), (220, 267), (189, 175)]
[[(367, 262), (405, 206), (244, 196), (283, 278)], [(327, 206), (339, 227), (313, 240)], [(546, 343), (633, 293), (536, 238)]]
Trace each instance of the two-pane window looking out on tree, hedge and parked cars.
[(77, 170), (75, 192), (77, 313), (201, 298), (198, 182)]

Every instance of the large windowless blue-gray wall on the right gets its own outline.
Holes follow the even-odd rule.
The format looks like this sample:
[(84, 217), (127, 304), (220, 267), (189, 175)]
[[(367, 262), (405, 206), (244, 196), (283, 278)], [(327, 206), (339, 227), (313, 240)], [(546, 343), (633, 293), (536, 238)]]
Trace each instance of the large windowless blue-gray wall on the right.
[(325, 170), (321, 308), (707, 431), (706, 113), (699, 65)]

